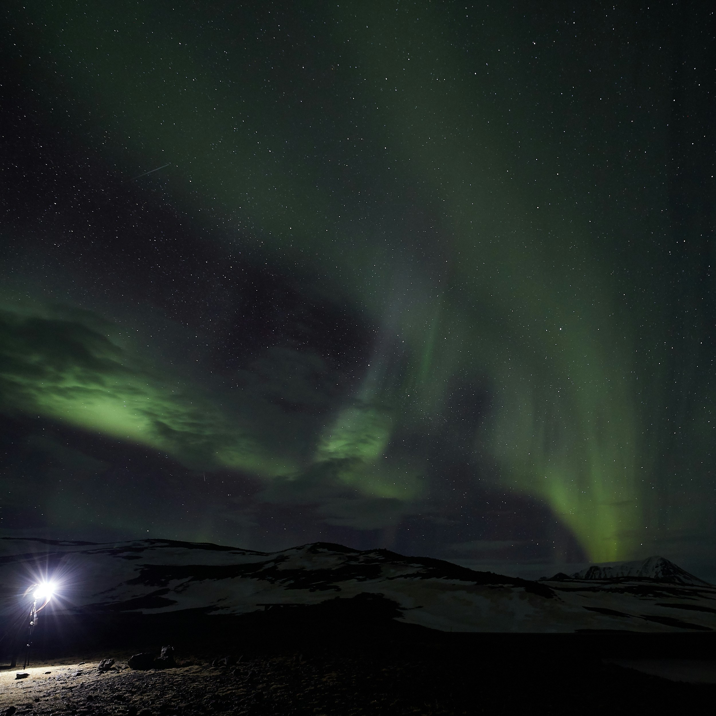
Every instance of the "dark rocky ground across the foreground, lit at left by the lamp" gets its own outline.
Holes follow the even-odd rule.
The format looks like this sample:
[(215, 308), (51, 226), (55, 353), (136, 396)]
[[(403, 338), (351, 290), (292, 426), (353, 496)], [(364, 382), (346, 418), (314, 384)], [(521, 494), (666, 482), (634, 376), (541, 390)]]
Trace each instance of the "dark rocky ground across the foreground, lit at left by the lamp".
[[(99, 658), (0, 672), (4, 716), (614, 714), (713, 703), (716, 687), (679, 684), (602, 662), (534, 664), (416, 659), (405, 654), (253, 655), (214, 665), (188, 657), (136, 671), (129, 653), (98, 672)], [(231, 662), (231, 659), (229, 659)], [(216, 661), (214, 661), (216, 664)], [(556, 669), (556, 670), (555, 670)], [(551, 674), (551, 677), (550, 677)], [(581, 677), (580, 677), (581, 674)]]

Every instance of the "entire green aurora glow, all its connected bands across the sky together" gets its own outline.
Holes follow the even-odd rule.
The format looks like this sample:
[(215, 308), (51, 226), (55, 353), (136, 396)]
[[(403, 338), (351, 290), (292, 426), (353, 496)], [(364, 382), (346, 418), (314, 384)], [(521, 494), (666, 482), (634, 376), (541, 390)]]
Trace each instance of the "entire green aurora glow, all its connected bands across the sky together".
[[(163, 175), (171, 200), (228, 246), (315, 271), (382, 326), (354, 400), (299, 455), (266, 438), (278, 434), (266, 427), (278, 417), (257, 425), (251, 405), (236, 413), (178, 374), (167, 377), (111, 326), (63, 319), (47, 347), (44, 309), (19, 312), (9, 297), (4, 410), (140, 442), (196, 469), (246, 470), (269, 485), (330, 468), (359, 494), (410, 504), (424, 493), (424, 464), (391, 453), (390, 439), (399, 428), (430, 432), (460, 376), (492, 395), (475, 449), (496, 465), (495, 479), (546, 500), (592, 560), (640, 556), (654, 531), (678, 540), (706, 519), (690, 488), (671, 511), (664, 504), (684, 474), (695, 491), (707, 480), (712, 380), (674, 364), (673, 336), (654, 319), (669, 313), (659, 292), (667, 274), (627, 277), (618, 265), (667, 231), (662, 218), (654, 210), (637, 221), (621, 204), (603, 213), (599, 201), (621, 181), (619, 167), (595, 196), (580, 173), (594, 158), (568, 149), (577, 132), (562, 140), (558, 120), (552, 132), (540, 128), (534, 117), (548, 110), (539, 92), (556, 115), (586, 117), (589, 107), (566, 109), (558, 90), (569, 78), (542, 79), (531, 94), (533, 78), (511, 49), (531, 37), (526, 21), (480, 10), (500, 30), (485, 30), (473, 57), (442, 6), (411, 6), (410, 22), (407, 10), (384, 4), (350, 7), (305, 31), (326, 48), (317, 89), (300, 66), (283, 85), (253, 67), (251, 57), (270, 52), (256, 28), (247, 26), (238, 47), (220, 18), (209, 37), (194, 29), (193, 11), (163, 4), (80, 13), (31, 0), (24, 42), (44, 47), (37, 72), (49, 72), (52, 59), (85, 117), (78, 131), (108, 160), (127, 175), (171, 162)], [(125, 12), (145, 13), (145, 25), (124, 24)], [(574, 74), (586, 74), (580, 62)], [(649, 79), (661, 71), (650, 69)], [(609, 78), (589, 81), (606, 87)], [(667, 107), (667, 89), (654, 92)], [(667, 109), (654, 115), (661, 124), (652, 135), (636, 140), (624, 130), (615, 141), (665, 136)], [(598, 143), (599, 119), (584, 121)], [(324, 127), (330, 139), (321, 139)], [(659, 158), (639, 161), (663, 173)], [(666, 192), (656, 181), (644, 188), (653, 206), (668, 204)], [(411, 197), (425, 206), (412, 226)], [(617, 248), (627, 234), (629, 255)], [(684, 343), (694, 365), (704, 360), (699, 346), (695, 330)], [(695, 373), (688, 400), (677, 400)], [(676, 432), (678, 444), (669, 437)]]

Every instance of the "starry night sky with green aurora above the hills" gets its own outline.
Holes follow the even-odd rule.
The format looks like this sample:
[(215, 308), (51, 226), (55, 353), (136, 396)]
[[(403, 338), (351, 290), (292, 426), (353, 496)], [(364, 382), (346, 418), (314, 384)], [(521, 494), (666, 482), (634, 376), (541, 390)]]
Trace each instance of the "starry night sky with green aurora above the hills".
[(1, 535), (716, 578), (710, 4), (2, 12)]

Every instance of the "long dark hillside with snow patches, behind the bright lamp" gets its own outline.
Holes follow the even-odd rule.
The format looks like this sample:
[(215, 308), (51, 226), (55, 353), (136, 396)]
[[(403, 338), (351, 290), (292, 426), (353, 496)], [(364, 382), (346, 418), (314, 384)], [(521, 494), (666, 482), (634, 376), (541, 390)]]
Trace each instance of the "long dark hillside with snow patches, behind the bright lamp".
[(381, 595), (399, 621), (446, 632), (716, 630), (716, 587), (700, 580), (529, 581), (329, 543), (263, 553), (156, 539), (0, 539), (0, 617), (16, 614), (42, 579), (57, 584), (54, 610), (69, 614), (238, 615)]

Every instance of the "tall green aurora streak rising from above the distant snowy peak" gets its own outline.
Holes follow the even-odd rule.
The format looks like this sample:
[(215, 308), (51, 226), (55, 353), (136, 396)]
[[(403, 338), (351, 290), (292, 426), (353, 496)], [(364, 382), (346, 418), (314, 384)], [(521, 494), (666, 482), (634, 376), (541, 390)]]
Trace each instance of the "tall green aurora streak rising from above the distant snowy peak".
[[(501, 401), (485, 438), (505, 485), (548, 500), (591, 558), (626, 558), (635, 546), (627, 533), (642, 528), (630, 346), (617, 338), (630, 326), (604, 305), (614, 286), (590, 258), (584, 222), (553, 207), (558, 196), (508, 180), (505, 141), (463, 99), (475, 81), (441, 41), (440, 11), (423, 6), (420, 16), (407, 31), (400, 13), (369, 6), (352, 24), (352, 48), (369, 87), (381, 89), (371, 99), (386, 141), (430, 185), (450, 226), (445, 314), (453, 330), (462, 324), (459, 369), (486, 373)], [(578, 275), (569, 259), (558, 266), (560, 254), (579, 256)], [(422, 339), (424, 393), (427, 362), (454, 359), (433, 355), (434, 333)]]

